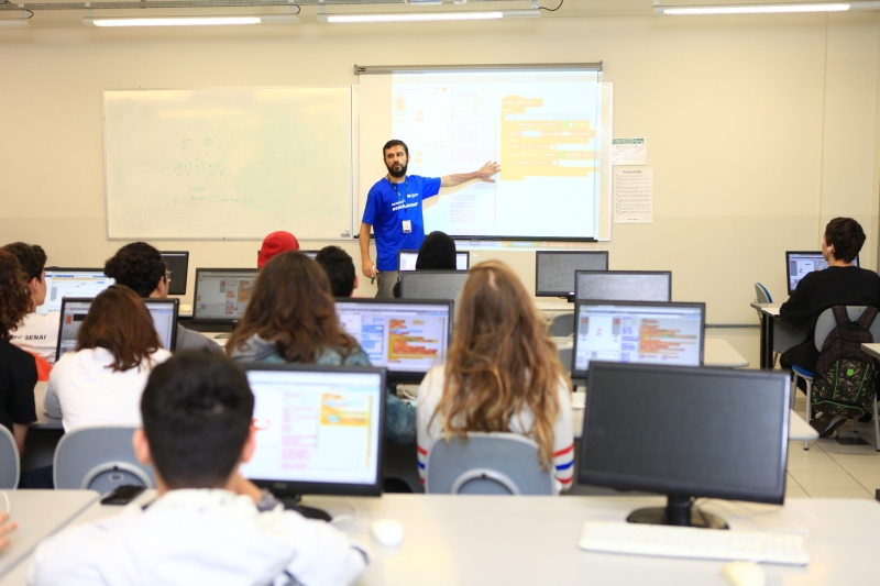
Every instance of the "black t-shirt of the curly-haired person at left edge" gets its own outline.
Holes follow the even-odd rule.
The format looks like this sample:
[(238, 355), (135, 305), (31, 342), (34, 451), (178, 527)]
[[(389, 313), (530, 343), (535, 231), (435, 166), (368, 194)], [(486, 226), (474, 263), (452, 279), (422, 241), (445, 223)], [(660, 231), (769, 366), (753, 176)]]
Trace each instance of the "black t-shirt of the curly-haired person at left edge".
[(36, 421), (35, 386), (33, 355), (0, 340), (0, 424), (12, 431), (12, 423), (26, 425)]

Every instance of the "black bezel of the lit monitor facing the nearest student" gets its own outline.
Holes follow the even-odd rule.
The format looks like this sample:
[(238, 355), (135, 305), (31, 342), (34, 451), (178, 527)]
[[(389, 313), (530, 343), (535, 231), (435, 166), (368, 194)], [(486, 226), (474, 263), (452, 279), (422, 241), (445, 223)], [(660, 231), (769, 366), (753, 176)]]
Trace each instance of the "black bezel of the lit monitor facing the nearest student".
[(386, 405), (385, 392), (387, 392), (387, 377), (385, 368), (374, 366), (327, 366), (316, 364), (265, 364), (265, 363), (242, 363), (245, 374), (250, 371), (297, 371), (309, 373), (356, 373), (356, 374), (378, 374), (380, 375), (380, 401), (376, 406), (378, 411), (378, 435), (376, 450), (376, 479), (371, 485), (364, 484), (340, 484), (340, 483), (311, 483), (292, 480), (272, 480), (249, 478), (260, 488), (267, 488), (278, 497), (294, 497), (299, 495), (331, 495), (350, 497), (381, 497), (384, 485), (385, 471), (385, 418)]

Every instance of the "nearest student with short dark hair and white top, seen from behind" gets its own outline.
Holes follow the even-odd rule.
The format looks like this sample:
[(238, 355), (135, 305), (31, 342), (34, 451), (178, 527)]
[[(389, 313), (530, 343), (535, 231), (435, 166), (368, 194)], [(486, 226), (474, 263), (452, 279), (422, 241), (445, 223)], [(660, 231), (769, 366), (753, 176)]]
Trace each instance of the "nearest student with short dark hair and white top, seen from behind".
[(158, 498), (47, 538), (28, 584), (353, 584), (361, 550), (238, 473), (256, 446), (253, 409), (248, 378), (222, 355), (183, 352), (157, 366), (133, 443)]

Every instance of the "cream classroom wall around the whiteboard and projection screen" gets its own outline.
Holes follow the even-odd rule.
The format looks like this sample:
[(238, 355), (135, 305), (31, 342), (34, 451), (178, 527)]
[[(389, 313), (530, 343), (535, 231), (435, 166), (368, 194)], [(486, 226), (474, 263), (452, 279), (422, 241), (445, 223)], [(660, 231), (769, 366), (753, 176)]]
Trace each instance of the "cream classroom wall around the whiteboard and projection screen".
[[(706, 301), (710, 322), (755, 323), (752, 284), (784, 298), (783, 252), (816, 248), (829, 218), (862, 222), (862, 264), (876, 267), (875, 12), (152, 31), (53, 18), (69, 26), (0, 31), (0, 240), (40, 243), (53, 264), (101, 265), (121, 245), (106, 240), (103, 89), (358, 84), (354, 64), (602, 60), (614, 134), (647, 136), (654, 169), (654, 223), (614, 225), (597, 245), (612, 268), (671, 269), (673, 298)], [(250, 266), (258, 243), (187, 247), (193, 265)], [(473, 258), (490, 256), (534, 286), (532, 254)]]

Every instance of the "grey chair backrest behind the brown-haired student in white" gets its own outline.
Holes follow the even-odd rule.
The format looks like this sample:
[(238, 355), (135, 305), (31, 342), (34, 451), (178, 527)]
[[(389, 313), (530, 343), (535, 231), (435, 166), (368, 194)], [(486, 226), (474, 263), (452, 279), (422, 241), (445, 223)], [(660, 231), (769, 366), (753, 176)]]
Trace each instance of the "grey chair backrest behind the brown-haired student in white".
[(155, 488), (153, 471), (134, 457), (131, 436), (135, 429), (96, 427), (65, 433), (55, 449), (55, 488), (102, 495), (125, 484)]

